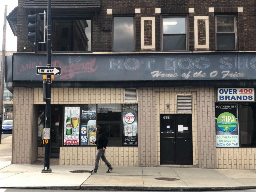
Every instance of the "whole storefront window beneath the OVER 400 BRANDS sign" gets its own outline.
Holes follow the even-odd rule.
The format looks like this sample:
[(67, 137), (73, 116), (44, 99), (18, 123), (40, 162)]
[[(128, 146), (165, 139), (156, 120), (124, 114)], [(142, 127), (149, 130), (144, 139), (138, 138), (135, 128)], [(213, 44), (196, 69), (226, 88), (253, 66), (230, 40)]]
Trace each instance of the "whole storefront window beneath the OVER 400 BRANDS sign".
[(216, 103), (216, 147), (256, 147), (256, 103)]

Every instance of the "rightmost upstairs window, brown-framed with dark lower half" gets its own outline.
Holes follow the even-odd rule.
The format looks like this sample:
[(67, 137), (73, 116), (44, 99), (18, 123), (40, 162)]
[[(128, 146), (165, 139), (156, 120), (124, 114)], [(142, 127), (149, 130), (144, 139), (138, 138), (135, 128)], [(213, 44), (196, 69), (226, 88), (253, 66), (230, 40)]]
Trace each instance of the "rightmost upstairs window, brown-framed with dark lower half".
[(215, 16), (216, 50), (236, 50), (236, 17)]

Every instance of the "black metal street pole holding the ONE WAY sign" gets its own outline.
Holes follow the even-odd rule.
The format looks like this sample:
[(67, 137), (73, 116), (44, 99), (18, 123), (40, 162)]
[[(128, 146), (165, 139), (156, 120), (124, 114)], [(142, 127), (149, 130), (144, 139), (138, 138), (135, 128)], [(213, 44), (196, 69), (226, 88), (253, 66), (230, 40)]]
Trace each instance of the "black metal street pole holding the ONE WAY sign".
[[(47, 67), (51, 67), (51, 0), (48, 0), (47, 11)], [(47, 75), (46, 78), (46, 108), (45, 108), (45, 130), (50, 130), (51, 119), (51, 75)], [(44, 169), (42, 173), (51, 173), (50, 169), (50, 139), (45, 140), (44, 144)]]

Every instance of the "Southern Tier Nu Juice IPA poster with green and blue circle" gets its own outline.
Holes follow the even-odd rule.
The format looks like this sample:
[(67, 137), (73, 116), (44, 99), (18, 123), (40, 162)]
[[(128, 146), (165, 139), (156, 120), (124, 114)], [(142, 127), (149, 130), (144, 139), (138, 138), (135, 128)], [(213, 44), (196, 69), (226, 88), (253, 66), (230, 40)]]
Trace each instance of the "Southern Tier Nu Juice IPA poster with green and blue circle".
[(236, 104), (215, 103), (216, 147), (239, 147)]

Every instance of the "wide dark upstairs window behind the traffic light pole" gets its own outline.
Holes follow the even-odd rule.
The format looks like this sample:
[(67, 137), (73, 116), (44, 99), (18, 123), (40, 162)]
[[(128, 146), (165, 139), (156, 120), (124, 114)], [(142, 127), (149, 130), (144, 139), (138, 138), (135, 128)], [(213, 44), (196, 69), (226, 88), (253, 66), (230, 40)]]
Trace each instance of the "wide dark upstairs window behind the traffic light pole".
[[(53, 18), (51, 26), (51, 45), (53, 51), (92, 50), (91, 19)], [(46, 51), (46, 44), (39, 44), (38, 46), (39, 51)]]

